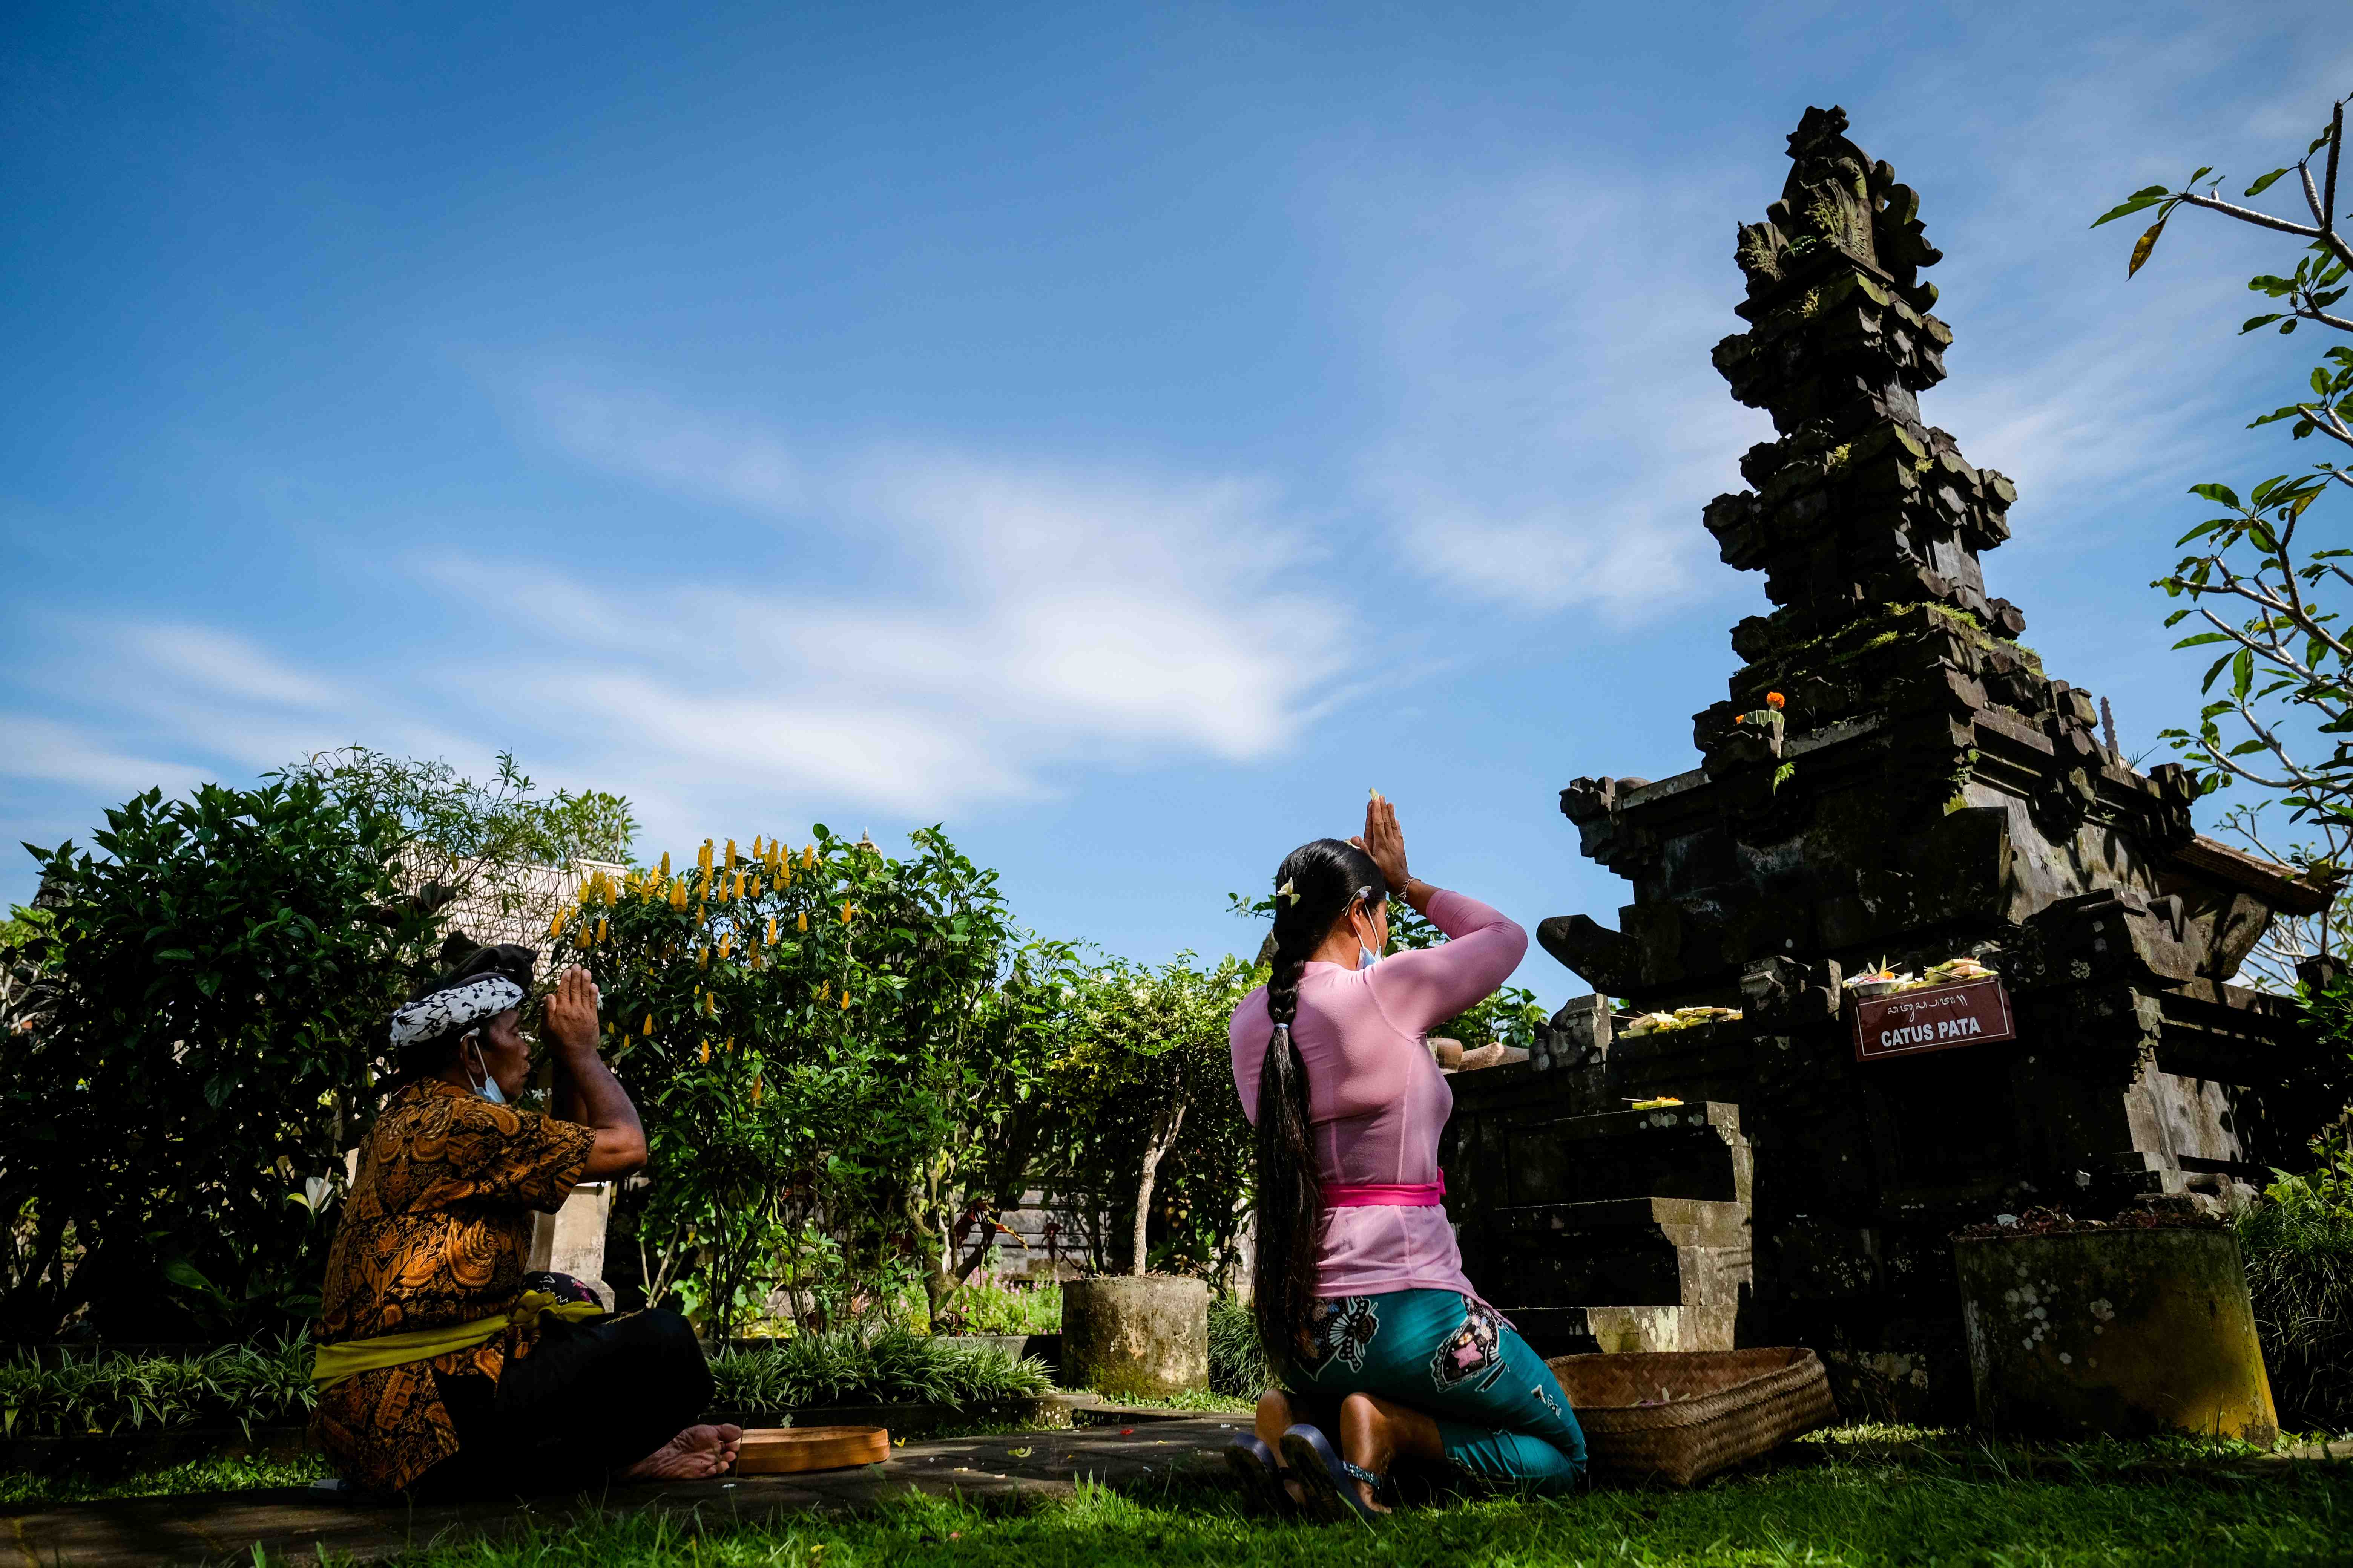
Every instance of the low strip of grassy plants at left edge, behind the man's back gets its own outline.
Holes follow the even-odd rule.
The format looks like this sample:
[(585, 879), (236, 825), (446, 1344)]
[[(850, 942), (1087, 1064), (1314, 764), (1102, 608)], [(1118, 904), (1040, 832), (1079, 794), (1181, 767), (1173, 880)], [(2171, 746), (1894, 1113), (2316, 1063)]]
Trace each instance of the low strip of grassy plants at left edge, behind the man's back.
[(96, 1354), (0, 1363), (0, 1436), (151, 1427), (254, 1427), (311, 1418), (311, 1345), (228, 1345), (202, 1356)]

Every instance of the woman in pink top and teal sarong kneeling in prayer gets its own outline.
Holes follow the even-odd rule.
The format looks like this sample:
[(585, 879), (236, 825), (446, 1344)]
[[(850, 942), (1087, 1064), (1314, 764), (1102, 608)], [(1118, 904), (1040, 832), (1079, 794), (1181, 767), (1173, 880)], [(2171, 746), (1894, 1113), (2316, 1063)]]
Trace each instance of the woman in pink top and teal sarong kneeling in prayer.
[[(1231, 1458), (1261, 1486), (1280, 1462), (1289, 1495), (1327, 1514), (1386, 1512), (1398, 1460), (1565, 1490), (1586, 1439), (1464, 1279), (1438, 1171), (1454, 1093), (1421, 1039), (1492, 994), (1527, 933), (1412, 877), (1379, 797), (1365, 837), (1294, 849), (1275, 884), (1275, 973), (1228, 1034), (1259, 1140), (1254, 1309), (1282, 1387)], [(1449, 940), (1381, 959), (1391, 893)]]

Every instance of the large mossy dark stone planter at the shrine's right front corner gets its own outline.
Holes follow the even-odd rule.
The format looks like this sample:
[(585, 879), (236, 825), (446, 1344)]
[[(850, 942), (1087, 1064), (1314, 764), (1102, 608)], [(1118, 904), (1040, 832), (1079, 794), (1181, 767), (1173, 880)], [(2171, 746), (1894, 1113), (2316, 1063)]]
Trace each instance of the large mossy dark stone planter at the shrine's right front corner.
[(2278, 1439), (2228, 1229), (1958, 1237), (1953, 1267), (1981, 1425)]

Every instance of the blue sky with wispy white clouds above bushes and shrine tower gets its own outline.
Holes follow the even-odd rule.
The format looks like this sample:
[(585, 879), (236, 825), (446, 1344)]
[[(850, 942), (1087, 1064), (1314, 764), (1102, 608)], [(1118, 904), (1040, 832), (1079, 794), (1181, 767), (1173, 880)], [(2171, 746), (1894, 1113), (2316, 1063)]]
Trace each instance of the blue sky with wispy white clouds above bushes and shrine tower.
[(0, 825), (508, 748), (647, 856), (941, 820), (1155, 959), (1379, 785), (1614, 924), (1555, 792), (1689, 766), (1762, 607), (1708, 348), (1800, 110), (1920, 188), (1988, 581), (2141, 750), (2311, 343), (2233, 336), (2261, 237), (2085, 223), (2346, 87), (2318, 2), (16, 7)]

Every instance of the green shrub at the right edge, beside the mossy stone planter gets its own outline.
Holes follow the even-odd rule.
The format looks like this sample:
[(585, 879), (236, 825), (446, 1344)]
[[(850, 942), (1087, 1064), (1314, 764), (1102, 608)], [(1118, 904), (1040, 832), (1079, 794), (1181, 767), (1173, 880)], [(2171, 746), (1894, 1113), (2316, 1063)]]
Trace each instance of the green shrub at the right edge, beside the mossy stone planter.
[(2353, 1145), (2313, 1145), (2238, 1220), (2271, 1394), (2289, 1429), (2353, 1427)]

